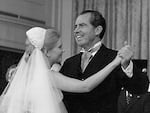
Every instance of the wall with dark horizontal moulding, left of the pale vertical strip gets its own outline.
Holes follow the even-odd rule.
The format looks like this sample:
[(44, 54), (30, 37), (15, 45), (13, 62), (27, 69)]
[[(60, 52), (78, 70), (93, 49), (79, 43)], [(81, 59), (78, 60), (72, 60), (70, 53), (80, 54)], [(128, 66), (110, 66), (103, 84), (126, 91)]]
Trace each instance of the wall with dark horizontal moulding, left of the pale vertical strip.
[(0, 46), (24, 49), (32, 26), (45, 26), (45, 0), (0, 1)]

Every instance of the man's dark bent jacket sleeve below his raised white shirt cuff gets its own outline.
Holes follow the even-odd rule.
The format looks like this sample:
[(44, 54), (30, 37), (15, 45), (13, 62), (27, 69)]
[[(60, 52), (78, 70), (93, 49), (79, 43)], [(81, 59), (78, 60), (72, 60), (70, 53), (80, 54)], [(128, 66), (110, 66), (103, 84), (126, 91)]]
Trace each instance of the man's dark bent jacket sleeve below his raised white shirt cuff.
[(133, 65), (133, 76), (131, 78), (126, 75), (122, 75), (121, 84), (131, 94), (144, 94), (148, 90), (149, 80), (146, 73), (143, 73), (140, 69)]

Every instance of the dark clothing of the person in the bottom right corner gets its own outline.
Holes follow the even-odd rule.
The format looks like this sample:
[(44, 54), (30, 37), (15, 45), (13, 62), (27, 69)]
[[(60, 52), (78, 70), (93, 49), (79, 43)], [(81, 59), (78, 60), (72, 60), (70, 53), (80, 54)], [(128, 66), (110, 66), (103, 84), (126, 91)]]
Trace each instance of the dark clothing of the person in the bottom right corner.
[(150, 92), (132, 94), (130, 103), (127, 104), (125, 90), (122, 90), (118, 99), (118, 113), (150, 113)]

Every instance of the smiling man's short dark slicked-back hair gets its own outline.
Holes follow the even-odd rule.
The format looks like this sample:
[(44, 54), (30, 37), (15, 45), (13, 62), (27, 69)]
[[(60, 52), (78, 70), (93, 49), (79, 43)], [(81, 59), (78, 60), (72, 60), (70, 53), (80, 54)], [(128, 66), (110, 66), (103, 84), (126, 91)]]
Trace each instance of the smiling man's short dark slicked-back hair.
[(99, 38), (102, 39), (104, 34), (105, 34), (105, 30), (106, 30), (106, 22), (104, 17), (102, 16), (102, 14), (98, 11), (94, 11), (94, 10), (85, 10), (83, 12), (80, 13), (80, 15), (83, 14), (87, 14), (90, 13), (91, 14), (91, 18), (90, 18), (90, 23), (94, 26), (102, 26), (102, 32), (99, 34)]

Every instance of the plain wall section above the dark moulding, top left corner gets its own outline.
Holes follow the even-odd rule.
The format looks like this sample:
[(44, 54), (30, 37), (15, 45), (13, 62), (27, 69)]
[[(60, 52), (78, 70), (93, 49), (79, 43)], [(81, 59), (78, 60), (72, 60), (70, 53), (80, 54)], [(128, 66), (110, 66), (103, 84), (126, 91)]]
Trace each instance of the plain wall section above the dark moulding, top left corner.
[(45, 20), (45, 5), (46, 0), (1, 0), (0, 11)]

